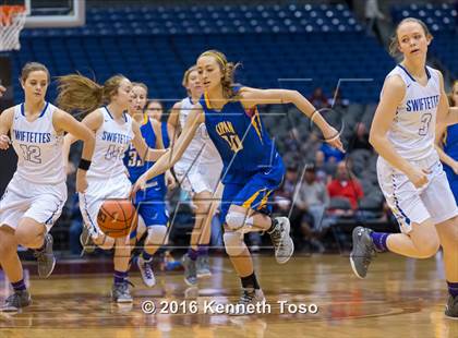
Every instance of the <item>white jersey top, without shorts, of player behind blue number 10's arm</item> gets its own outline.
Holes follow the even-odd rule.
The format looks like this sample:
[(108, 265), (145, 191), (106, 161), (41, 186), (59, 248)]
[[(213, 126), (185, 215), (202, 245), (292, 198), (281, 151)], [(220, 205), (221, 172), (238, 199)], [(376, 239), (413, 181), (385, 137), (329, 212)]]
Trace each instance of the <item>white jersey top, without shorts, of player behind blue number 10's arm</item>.
[[(186, 97), (181, 100), (181, 109), (179, 112), (181, 130), (183, 130), (192, 109), (195, 108), (193, 102), (191, 101), (191, 98)], [(196, 159), (196, 157), (198, 158)], [(197, 164), (209, 164), (220, 160), (221, 157), (219, 156), (218, 150), (216, 149), (214, 143), (208, 136), (205, 123), (202, 123), (195, 131), (194, 138), (191, 141), (190, 145), (188, 146), (181, 159), (178, 161), (177, 166), (189, 166), (194, 161), (195, 166)]]

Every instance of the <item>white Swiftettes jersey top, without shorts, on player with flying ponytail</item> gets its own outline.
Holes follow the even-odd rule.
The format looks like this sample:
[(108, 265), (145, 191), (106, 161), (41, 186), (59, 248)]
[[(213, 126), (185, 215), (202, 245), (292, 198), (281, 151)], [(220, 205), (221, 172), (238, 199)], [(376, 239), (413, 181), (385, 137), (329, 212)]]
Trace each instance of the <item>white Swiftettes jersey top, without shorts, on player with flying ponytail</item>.
[(88, 179), (109, 180), (114, 177), (125, 177), (122, 161), (124, 152), (133, 138), (132, 118), (123, 113), (123, 123), (118, 123), (107, 107), (99, 108), (104, 123), (96, 132), (96, 145)]

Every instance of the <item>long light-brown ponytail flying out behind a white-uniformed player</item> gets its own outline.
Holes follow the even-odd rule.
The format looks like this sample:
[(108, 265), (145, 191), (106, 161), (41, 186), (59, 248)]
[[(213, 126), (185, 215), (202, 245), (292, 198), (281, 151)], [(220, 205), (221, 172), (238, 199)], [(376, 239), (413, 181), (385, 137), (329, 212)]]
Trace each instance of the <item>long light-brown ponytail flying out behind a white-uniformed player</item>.
[(96, 110), (101, 105), (109, 104), (113, 95), (118, 93), (124, 75), (118, 74), (108, 79), (104, 85), (81, 74), (70, 74), (58, 77), (59, 95), (57, 105), (65, 110), (79, 110), (87, 113)]

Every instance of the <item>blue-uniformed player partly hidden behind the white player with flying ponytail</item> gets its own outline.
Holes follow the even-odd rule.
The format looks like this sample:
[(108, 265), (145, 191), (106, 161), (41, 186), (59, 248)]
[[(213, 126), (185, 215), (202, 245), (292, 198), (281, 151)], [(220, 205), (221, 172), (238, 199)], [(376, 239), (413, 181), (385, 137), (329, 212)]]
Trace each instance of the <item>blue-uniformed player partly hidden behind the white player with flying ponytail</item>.
[[(143, 83), (132, 83), (131, 102), (129, 114), (138, 123), (142, 136), (150, 148), (162, 149), (160, 123), (144, 113), (148, 88)], [(129, 179), (135, 182), (147, 169), (153, 166), (152, 161), (144, 161), (133, 144), (129, 146), (124, 156), (124, 165), (129, 170)], [(166, 173), (169, 188), (174, 184), (174, 179), (169, 171)], [(142, 254), (136, 264), (145, 286), (152, 288), (156, 278), (152, 268), (153, 255), (164, 244), (167, 236), (168, 214), (166, 210), (166, 182), (165, 176), (160, 174), (147, 182), (147, 188), (140, 191), (133, 202), (138, 212), (137, 231), (131, 233), (131, 240), (135, 242), (141, 237), (142, 225), (146, 226), (147, 237)]]

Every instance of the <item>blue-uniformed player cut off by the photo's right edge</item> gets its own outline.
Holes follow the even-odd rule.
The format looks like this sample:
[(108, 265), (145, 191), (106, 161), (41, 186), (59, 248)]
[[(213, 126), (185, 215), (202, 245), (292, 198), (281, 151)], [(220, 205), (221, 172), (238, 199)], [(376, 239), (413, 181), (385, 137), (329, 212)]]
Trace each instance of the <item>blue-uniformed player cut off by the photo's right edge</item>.
[(448, 101), (449, 113), (444, 123), (436, 125), (436, 149), (458, 205), (458, 80), (454, 82)]

